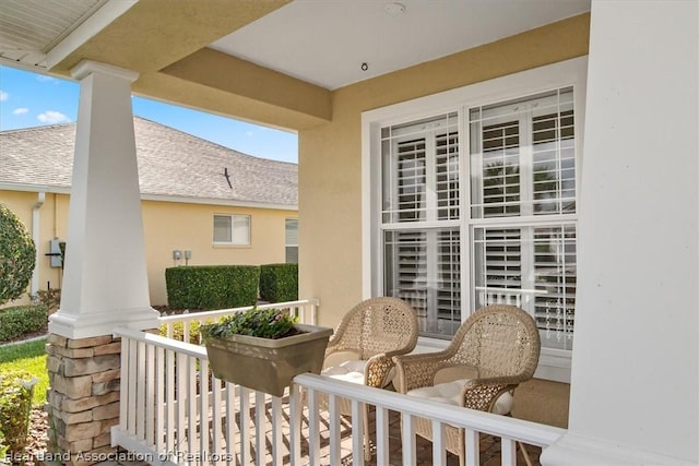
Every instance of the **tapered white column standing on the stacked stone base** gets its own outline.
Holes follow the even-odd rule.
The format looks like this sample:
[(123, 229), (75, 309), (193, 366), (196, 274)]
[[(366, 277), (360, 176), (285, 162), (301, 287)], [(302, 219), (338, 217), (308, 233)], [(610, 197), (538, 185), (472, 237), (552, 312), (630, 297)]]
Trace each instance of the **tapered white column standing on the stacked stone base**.
[(131, 83), (138, 73), (83, 61), (61, 306), (49, 332), (109, 335), (153, 328), (133, 138)]

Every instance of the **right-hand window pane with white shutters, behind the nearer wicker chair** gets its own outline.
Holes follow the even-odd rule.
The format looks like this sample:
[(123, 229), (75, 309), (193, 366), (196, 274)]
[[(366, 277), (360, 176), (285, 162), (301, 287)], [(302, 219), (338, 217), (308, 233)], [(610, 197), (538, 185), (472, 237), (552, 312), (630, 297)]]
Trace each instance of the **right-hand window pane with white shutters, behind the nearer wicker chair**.
[[(544, 347), (570, 349), (576, 296), (572, 88), (470, 110), (474, 307), (529, 311)], [(536, 218), (540, 217), (540, 218)]]

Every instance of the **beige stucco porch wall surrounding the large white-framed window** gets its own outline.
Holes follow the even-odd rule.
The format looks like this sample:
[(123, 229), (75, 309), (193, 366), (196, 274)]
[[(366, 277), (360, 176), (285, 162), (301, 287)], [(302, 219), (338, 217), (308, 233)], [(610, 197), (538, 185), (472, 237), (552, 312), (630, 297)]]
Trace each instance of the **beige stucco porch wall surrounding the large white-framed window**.
[[(347, 86), (299, 131), (300, 296), (334, 325), (362, 300), (362, 112), (588, 53), (589, 14)], [(304, 247), (306, 246), (306, 247)]]

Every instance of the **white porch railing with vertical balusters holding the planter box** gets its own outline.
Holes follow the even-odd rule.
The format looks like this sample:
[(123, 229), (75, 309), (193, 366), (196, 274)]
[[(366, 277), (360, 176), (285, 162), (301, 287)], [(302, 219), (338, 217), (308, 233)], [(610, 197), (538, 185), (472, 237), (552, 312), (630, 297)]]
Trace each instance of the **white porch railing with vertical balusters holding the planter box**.
[[(270, 306), (304, 308), (315, 321), (315, 301)], [(215, 315), (239, 310), (215, 311)], [(206, 320), (212, 314), (163, 321), (167, 326), (178, 320)], [(126, 328), (115, 334), (121, 336), (121, 398), (120, 422), (111, 429), (111, 441), (130, 451), (131, 458), (155, 465), (341, 465), (346, 464), (350, 453), (352, 464), (364, 465), (363, 404), (375, 409), (376, 430), (370, 434), (377, 465), (389, 465), (390, 414), (400, 415), (402, 464), (408, 466), (416, 464), (415, 417), (434, 422), (436, 466), (447, 464), (446, 425), (466, 429), (467, 465), (479, 464), (479, 432), (500, 438), (505, 466), (516, 464), (517, 441), (545, 447), (565, 432), (315, 374), (296, 377), (288, 396), (273, 397), (214, 378), (202, 346)], [(321, 394), (329, 397), (328, 413), (319, 408)], [(351, 425), (341, 422), (340, 397), (352, 403)], [(327, 432), (321, 432), (323, 429)]]

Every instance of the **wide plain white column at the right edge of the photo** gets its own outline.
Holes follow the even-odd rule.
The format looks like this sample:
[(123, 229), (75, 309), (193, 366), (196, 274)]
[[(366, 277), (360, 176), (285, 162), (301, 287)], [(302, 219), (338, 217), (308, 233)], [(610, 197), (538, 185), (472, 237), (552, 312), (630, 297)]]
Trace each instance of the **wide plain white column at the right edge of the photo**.
[(593, 0), (569, 431), (543, 465), (699, 463), (699, 2)]

